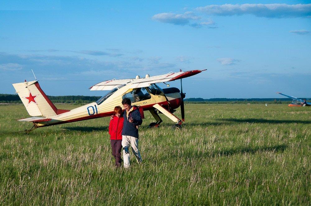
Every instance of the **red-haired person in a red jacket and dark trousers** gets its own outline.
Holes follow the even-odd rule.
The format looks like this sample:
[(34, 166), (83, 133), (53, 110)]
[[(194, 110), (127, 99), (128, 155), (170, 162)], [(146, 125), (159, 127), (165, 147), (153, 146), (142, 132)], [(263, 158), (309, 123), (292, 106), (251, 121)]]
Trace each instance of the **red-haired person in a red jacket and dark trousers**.
[(121, 148), (122, 148), (122, 129), (123, 129), (123, 115), (122, 108), (116, 106), (114, 108), (113, 118), (110, 119), (109, 124), (109, 134), (110, 134), (110, 144), (112, 149), (112, 156), (115, 159), (115, 166), (119, 167), (121, 165)]

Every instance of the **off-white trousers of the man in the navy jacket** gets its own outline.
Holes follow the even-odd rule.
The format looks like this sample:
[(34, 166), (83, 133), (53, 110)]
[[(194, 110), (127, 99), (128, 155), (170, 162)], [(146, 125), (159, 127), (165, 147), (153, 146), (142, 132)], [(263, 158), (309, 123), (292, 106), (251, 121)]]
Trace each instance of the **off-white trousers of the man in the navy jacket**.
[[(133, 154), (136, 157), (137, 162), (142, 162), (142, 157), (140, 156), (140, 151), (138, 150), (138, 138), (128, 136), (128, 135), (122, 135), (122, 147), (128, 146), (128, 148), (132, 147)], [(130, 166), (130, 153), (126, 154), (123, 150), (123, 163), (124, 168), (129, 168)]]

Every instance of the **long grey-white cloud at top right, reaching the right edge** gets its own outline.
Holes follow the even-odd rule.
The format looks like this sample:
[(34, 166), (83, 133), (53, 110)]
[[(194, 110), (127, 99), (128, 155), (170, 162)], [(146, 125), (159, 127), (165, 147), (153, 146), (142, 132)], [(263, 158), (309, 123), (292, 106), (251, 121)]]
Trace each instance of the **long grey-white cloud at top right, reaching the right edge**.
[(286, 17), (310, 17), (311, 4), (223, 4), (197, 7), (210, 15), (233, 16), (252, 14), (259, 17), (286, 18)]

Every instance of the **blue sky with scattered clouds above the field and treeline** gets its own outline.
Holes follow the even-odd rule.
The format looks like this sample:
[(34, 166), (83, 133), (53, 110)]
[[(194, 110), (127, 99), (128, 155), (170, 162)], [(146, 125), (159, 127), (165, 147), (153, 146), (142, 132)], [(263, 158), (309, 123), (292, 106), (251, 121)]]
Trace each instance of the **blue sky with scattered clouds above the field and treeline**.
[(0, 2), (0, 93), (31, 69), (48, 95), (87, 96), (101, 80), (208, 69), (183, 81), (187, 98), (311, 97), (310, 56), (310, 1)]

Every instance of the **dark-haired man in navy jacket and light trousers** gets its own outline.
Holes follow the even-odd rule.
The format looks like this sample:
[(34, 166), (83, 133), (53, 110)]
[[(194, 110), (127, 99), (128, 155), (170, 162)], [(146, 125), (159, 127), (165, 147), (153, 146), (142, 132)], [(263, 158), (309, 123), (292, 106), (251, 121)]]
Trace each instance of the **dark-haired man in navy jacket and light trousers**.
[(122, 100), (122, 105), (125, 109), (123, 117), (123, 130), (122, 130), (122, 146), (123, 146), (123, 162), (124, 168), (130, 166), (129, 147), (132, 147), (133, 154), (137, 162), (142, 162), (142, 157), (138, 149), (138, 125), (142, 124), (142, 117), (137, 106), (132, 106), (129, 98)]

